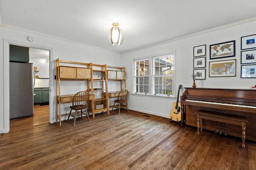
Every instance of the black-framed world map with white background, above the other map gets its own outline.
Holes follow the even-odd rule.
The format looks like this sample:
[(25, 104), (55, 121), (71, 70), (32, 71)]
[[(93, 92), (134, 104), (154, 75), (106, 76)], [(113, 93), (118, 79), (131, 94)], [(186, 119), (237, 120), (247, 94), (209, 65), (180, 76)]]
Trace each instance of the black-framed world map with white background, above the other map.
[(236, 41), (228, 41), (210, 45), (210, 59), (236, 56)]

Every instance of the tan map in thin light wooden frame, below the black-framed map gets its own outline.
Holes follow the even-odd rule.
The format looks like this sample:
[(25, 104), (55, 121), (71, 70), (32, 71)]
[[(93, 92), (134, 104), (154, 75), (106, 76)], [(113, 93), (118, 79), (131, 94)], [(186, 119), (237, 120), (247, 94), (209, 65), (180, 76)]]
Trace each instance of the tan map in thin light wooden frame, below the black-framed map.
[(236, 59), (209, 62), (209, 77), (236, 76)]

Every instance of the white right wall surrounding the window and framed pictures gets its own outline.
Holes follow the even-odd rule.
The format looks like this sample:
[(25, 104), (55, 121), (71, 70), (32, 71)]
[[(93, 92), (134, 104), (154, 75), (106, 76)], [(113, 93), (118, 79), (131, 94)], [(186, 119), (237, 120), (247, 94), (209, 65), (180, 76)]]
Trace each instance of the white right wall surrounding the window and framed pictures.
[[(230, 26), (230, 25), (229, 25)], [(123, 63), (126, 67), (127, 87), (132, 92), (132, 60), (138, 57), (176, 51), (176, 90), (182, 84), (183, 87), (192, 87), (193, 80), (190, 76), (193, 74), (193, 48), (206, 44), (206, 80), (196, 80), (197, 87), (204, 88), (244, 88), (252, 89), (256, 84), (256, 78), (240, 78), (240, 49), (241, 37), (256, 34), (256, 21), (243, 24), (233, 24), (231, 27), (222, 27), (198, 33), (197, 35), (184, 37), (176, 41), (164, 43), (154, 47), (141, 49), (122, 55)], [(223, 43), (227, 41), (236, 41), (236, 57), (214, 59), (211, 61), (220, 61), (227, 59), (236, 59), (236, 76), (235, 77), (209, 77), (209, 45)], [(181, 94), (184, 92), (182, 88)], [(176, 92), (177, 93), (177, 92)], [(169, 117), (172, 103), (175, 99), (152, 98), (148, 96), (129, 95), (129, 109)]]

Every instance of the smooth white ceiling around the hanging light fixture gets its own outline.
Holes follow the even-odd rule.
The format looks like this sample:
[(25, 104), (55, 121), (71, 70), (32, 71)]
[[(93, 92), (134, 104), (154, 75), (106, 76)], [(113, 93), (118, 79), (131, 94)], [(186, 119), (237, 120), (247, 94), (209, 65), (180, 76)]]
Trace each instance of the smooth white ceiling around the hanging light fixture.
[[(256, 0), (0, 0), (0, 17), (3, 26), (125, 53), (254, 18)], [(108, 41), (114, 22), (119, 47)]]

